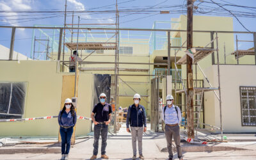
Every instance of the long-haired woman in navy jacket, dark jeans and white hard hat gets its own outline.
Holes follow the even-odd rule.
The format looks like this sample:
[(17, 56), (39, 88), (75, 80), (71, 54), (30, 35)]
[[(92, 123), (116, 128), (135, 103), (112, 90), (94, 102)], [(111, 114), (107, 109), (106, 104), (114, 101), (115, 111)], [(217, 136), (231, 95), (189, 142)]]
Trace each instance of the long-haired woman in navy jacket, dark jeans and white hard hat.
[[(58, 122), (61, 136), (61, 159), (68, 159), (73, 127), (76, 125), (76, 111), (71, 99), (65, 100), (65, 105), (60, 111)], [(66, 147), (67, 146), (67, 147)]]

